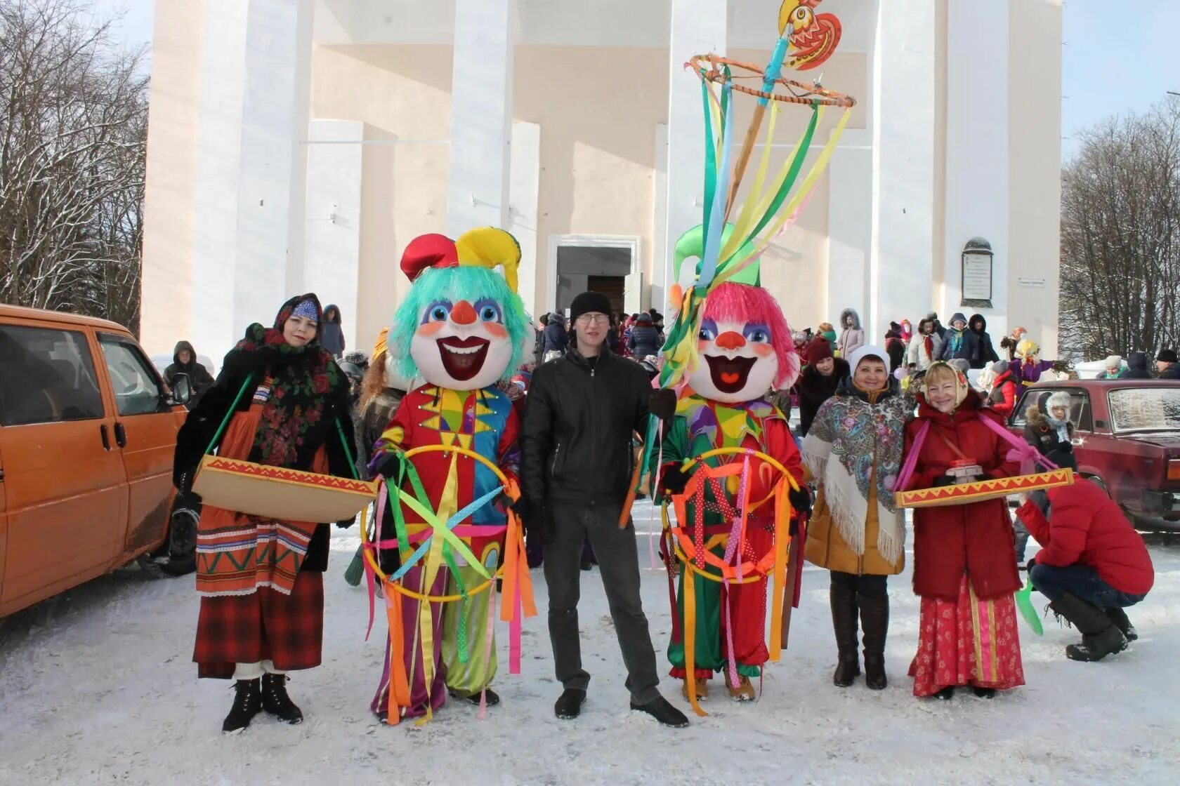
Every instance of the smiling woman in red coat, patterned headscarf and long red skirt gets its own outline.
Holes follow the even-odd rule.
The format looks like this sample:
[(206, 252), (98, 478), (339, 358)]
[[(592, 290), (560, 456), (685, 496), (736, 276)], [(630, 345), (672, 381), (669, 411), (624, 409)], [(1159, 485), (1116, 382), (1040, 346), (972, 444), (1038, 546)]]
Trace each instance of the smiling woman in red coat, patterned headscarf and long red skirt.
[[(905, 432), (906, 454), (918, 451), (909, 489), (1020, 474), (1008, 443), (983, 422), (1001, 418), (970, 394), (962, 371), (930, 366)], [(950, 699), (956, 687), (971, 686), (991, 698), (1024, 685), (1012, 602), (1020, 586), (1005, 500), (913, 511), (913, 590), (922, 596), (914, 695)]]

